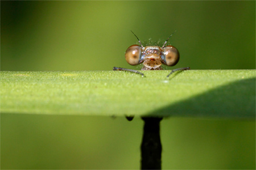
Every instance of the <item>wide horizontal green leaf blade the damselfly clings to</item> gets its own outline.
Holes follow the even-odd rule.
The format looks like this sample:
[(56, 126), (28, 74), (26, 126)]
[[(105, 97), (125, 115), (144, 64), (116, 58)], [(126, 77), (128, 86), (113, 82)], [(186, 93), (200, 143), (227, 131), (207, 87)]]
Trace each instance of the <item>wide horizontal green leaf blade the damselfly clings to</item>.
[(1, 71), (1, 113), (255, 117), (255, 70)]

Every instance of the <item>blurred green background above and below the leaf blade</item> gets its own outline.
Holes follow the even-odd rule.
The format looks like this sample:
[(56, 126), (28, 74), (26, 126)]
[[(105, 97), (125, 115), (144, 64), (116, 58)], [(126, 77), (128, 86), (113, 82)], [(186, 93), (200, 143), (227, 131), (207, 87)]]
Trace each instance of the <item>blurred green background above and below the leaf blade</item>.
[[(1, 1), (1, 70), (136, 69), (137, 39), (180, 52), (166, 69), (255, 69), (255, 1)], [(138, 169), (143, 122), (1, 114), (1, 169)], [(163, 169), (255, 169), (255, 121), (162, 121)]]

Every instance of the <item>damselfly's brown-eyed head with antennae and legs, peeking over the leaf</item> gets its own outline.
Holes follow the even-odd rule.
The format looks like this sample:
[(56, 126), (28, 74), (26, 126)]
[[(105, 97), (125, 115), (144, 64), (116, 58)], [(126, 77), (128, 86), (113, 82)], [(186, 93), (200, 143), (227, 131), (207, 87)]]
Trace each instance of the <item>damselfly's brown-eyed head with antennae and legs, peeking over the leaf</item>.
[[(176, 65), (176, 63), (179, 62), (179, 59), (180, 59), (179, 51), (172, 45), (165, 46), (171, 36), (168, 37), (168, 39), (164, 42), (162, 47), (143, 46), (141, 44), (141, 41), (136, 36), (139, 41), (139, 44), (141, 45), (129, 46), (129, 48), (125, 52), (125, 59), (127, 63), (129, 63), (130, 65), (138, 65), (142, 63), (143, 67), (141, 70), (163, 70), (163, 68), (161, 67), (162, 64), (167, 66)], [(184, 68), (172, 70), (171, 73), (167, 75), (167, 77), (170, 76), (175, 71), (189, 70), (189, 69), (190, 69), (189, 67), (184, 67)], [(137, 70), (124, 69), (119, 67), (114, 67), (113, 70), (131, 71), (144, 76), (143, 73)]]

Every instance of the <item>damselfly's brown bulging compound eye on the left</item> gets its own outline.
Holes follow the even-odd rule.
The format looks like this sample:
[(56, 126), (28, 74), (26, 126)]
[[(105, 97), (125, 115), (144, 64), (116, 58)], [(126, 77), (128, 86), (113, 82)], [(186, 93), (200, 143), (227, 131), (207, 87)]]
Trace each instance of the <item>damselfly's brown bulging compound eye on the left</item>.
[(125, 59), (130, 65), (138, 65), (141, 59), (141, 46), (131, 45), (125, 52)]

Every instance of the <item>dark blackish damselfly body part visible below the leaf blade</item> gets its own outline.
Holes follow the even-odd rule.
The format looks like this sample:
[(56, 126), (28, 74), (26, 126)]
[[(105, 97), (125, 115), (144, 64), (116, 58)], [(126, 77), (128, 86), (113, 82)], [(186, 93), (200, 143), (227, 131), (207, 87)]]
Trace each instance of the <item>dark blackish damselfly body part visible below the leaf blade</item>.
[(163, 117), (142, 117), (141, 169), (161, 169), (160, 121)]

